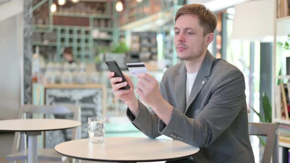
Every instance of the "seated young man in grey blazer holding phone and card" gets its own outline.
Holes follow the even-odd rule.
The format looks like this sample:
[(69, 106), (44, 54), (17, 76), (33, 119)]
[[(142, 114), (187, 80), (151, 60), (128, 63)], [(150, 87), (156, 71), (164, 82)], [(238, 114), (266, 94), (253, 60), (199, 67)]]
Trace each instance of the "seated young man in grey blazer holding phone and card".
[[(139, 75), (141, 101), (127, 76), (128, 83), (117, 84), (121, 79), (114, 73), (108, 78), (115, 96), (127, 104), (129, 119), (148, 137), (165, 135), (200, 147), (193, 156), (197, 163), (254, 163), (244, 76), (207, 51), (215, 27), (216, 18), (205, 6), (181, 7), (175, 15), (174, 45), (184, 61), (170, 67), (159, 86), (151, 75)], [(130, 90), (119, 89), (127, 84)]]

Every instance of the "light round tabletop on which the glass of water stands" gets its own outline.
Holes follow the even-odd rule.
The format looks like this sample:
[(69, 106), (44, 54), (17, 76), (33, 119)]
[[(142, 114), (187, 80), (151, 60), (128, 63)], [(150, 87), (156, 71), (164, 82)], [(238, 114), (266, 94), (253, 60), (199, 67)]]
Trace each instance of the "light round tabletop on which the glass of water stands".
[(105, 137), (103, 144), (88, 139), (60, 143), (55, 150), (67, 157), (101, 162), (157, 162), (187, 158), (200, 149), (181, 141), (147, 137)]

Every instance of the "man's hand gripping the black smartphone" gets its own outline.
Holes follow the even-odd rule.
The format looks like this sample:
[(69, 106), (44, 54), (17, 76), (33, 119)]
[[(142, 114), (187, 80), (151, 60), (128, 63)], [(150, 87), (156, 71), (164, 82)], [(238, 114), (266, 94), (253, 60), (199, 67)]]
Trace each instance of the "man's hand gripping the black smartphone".
[[(108, 74), (108, 78), (110, 79), (111, 85), (112, 85), (112, 90), (114, 92), (115, 97), (118, 99), (124, 101), (128, 108), (131, 110), (131, 112), (136, 116), (138, 113), (138, 107), (139, 107), (139, 102), (135, 96), (134, 93), (134, 84), (131, 81), (131, 79), (124, 74), (124, 77), (126, 78), (126, 81), (128, 82), (121, 82), (122, 78), (116, 77), (114, 78), (115, 73), (110, 72)], [(120, 83), (117, 83), (120, 82)], [(126, 86), (127, 84), (130, 85), (130, 89), (120, 89), (121, 87)]]

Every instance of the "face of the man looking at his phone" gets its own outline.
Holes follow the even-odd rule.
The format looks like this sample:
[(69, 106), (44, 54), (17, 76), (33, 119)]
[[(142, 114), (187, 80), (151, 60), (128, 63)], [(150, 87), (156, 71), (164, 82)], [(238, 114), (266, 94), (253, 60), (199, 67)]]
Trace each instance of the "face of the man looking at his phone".
[(174, 46), (179, 58), (189, 61), (201, 57), (207, 46), (203, 31), (198, 16), (178, 17), (174, 27)]

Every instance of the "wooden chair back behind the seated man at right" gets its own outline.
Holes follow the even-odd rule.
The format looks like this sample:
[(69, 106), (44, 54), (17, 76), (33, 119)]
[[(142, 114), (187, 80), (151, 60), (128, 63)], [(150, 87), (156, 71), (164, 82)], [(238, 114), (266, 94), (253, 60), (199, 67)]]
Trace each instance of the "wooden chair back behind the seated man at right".
[(267, 136), (261, 163), (278, 163), (278, 124), (249, 123), (249, 135)]

